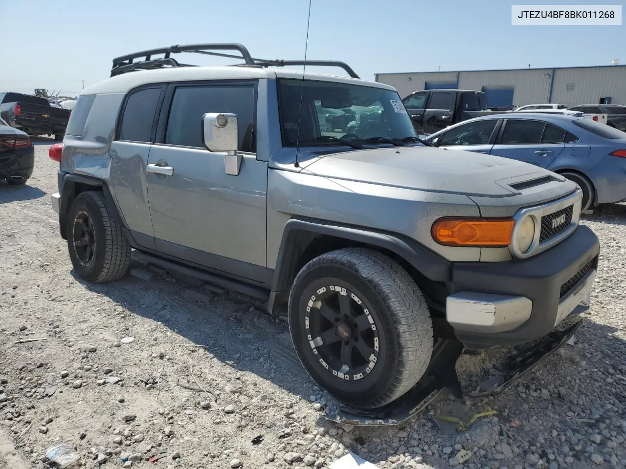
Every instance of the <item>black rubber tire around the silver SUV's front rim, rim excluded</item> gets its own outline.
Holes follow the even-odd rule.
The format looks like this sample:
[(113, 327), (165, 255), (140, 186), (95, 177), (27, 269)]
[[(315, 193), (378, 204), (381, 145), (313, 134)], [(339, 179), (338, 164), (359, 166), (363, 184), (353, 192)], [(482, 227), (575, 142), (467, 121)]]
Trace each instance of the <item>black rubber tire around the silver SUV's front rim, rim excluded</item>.
[[(321, 309), (310, 306), (316, 304), (312, 303), (313, 296), (321, 299), (326, 293), (320, 291), (324, 287), (337, 291), (335, 285), (356, 295), (362, 305), (352, 296), (355, 302), (350, 303), (351, 311), (358, 308), (353, 305), (367, 307), (364, 311), (369, 311), (376, 326), (378, 355), (371, 371), (362, 378), (352, 375), (346, 380), (339, 377), (343, 373), (334, 374), (332, 366), (326, 368), (321, 359), (323, 351), (330, 346), (322, 349), (324, 345), (319, 345), (319, 340), (315, 345), (316, 337), (310, 335), (311, 324), (316, 321), (314, 315), (321, 315)], [(339, 293), (337, 298), (341, 298)], [(322, 304), (322, 301), (317, 303)], [(294, 280), (288, 315), (295, 350), (305, 370), (317, 385), (347, 405), (378, 408), (397, 400), (413, 388), (431, 360), (433, 325), (421, 291), (396, 261), (376, 251), (345, 248), (309, 261)], [(317, 321), (319, 318), (321, 316)], [(339, 337), (341, 331), (337, 329), (334, 333)], [(367, 335), (370, 331), (364, 333)], [(357, 373), (356, 369), (352, 372)]]

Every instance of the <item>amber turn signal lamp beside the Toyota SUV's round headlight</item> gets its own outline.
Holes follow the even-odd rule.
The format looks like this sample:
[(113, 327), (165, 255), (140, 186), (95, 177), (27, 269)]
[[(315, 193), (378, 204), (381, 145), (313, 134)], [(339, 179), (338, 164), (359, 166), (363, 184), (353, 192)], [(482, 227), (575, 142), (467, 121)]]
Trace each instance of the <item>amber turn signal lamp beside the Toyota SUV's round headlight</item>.
[(433, 225), (433, 238), (445, 246), (508, 246), (514, 226), (509, 218), (441, 218)]

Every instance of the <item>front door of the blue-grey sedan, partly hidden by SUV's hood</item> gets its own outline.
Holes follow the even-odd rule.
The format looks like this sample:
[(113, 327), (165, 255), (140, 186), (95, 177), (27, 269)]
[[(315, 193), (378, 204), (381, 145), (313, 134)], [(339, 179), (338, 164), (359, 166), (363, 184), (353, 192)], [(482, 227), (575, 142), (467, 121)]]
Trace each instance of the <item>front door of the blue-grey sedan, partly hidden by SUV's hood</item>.
[(459, 124), (444, 131), (437, 144), (449, 148), (475, 153), (490, 153), (500, 119), (480, 119)]

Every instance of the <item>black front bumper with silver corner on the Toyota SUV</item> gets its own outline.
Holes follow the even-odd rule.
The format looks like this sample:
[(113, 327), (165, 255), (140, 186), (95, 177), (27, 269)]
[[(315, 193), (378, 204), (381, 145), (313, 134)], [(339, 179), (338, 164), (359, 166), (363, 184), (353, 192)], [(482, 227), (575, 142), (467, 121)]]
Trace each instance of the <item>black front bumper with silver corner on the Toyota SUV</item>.
[(446, 320), (470, 349), (541, 338), (589, 308), (600, 243), (587, 226), (525, 260), (455, 263)]

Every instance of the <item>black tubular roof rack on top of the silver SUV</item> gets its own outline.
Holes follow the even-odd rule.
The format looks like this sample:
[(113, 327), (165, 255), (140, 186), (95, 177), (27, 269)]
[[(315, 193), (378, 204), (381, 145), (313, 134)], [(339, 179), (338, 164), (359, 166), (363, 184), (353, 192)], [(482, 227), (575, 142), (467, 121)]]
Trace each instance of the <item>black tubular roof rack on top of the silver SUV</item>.
[[(240, 55), (225, 54), (217, 51), (237, 51)], [(255, 59), (250, 55), (245, 46), (237, 43), (225, 44), (190, 44), (187, 46), (171, 46), (162, 49), (150, 49), (149, 51), (141, 51), (128, 54), (113, 59), (113, 68), (111, 68), (111, 76), (120, 75), (139, 69), (156, 69), (167, 67), (195, 67), (192, 64), (183, 64), (172, 58), (172, 54), (178, 53), (197, 53), (209, 56), (226, 57), (232, 59), (244, 59), (242, 64), (233, 64), (232, 66), (244, 67), (284, 67), (284, 66), (322, 66), (322, 67), (338, 67), (344, 69), (352, 78), (360, 78), (352, 68), (340, 61), (334, 60), (265, 60)], [(163, 54), (163, 57), (152, 58)], [(140, 59), (134, 62), (135, 59)]]

